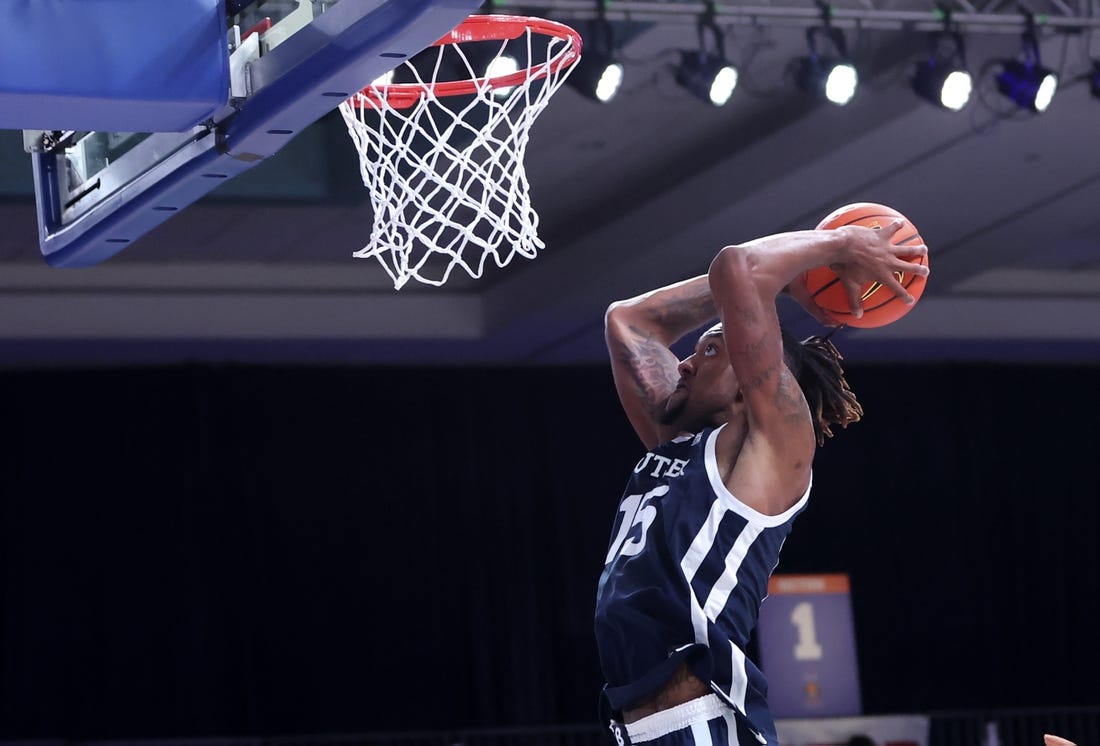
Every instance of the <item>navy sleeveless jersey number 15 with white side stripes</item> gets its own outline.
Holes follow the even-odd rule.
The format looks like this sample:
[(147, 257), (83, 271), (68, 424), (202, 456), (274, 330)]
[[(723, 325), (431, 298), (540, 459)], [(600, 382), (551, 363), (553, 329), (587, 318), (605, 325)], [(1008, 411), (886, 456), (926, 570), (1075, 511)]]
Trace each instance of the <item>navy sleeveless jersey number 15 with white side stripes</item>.
[(686, 662), (773, 733), (767, 682), (745, 649), (810, 489), (782, 515), (745, 505), (718, 472), (721, 429), (658, 446), (635, 467), (600, 578), (596, 644), (613, 709), (656, 694)]

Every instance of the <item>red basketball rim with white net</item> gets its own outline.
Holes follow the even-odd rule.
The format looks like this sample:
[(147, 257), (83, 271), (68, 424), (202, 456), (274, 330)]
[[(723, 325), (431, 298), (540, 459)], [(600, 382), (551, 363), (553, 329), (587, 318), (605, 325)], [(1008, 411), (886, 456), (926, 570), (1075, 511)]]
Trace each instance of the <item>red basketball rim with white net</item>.
[[(394, 70), (407, 81), (378, 79), (342, 102), (374, 211), (354, 255), (377, 259), (398, 289), (442, 285), (454, 267), (481, 277), (491, 257), (534, 259), (544, 243), (524, 154), (580, 54), (561, 23), (472, 15)], [(494, 69), (513, 55), (514, 68)]]

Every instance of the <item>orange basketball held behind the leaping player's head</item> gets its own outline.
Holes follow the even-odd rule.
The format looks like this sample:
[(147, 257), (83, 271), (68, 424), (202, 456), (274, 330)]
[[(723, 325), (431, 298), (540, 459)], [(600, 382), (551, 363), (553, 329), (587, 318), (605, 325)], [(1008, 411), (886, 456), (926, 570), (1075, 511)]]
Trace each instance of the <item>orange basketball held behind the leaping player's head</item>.
[[(901, 218), (904, 224), (894, 233), (891, 243), (894, 245), (921, 244), (924, 239), (916, 230), (909, 218), (886, 205), (877, 202), (855, 202), (839, 207), (827, 216), (820, 223), (817, 229), (833, 229), (842, 226), (866, 226), (868, 228), (884, 228)], [(928, 256), (921, 257), (921, 264), (928, 265)], [(895, 273), (898, 281), (909, 290), (915, 299), (920, 299), (924, 293), (926, 277), (911, 274), (909, 272)], [(856, 318), (848, 306), (848, 296), (844, 292), (844, 285), (827, 266), (815, 267), (802, 275), (802, 283), (817, 306), (825, 315), (838, 325), (847, 327), (875, 328), (884, 327), (900, 319), (911, 311), (916, 304), (906, 306), (901, 298), (893, 294), (893, 290), (881, 283), (867, 283), (862, 287), (864, 316)]]

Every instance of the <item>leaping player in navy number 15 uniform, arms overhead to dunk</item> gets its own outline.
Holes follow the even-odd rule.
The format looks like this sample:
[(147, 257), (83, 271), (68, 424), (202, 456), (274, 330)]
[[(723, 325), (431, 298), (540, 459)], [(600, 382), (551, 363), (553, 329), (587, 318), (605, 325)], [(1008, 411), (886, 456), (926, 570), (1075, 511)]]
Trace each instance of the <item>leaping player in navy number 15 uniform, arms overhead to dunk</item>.
[[(745, 648), (810, 496), (814, 452), (862, 410), (833, 344), (788, 338), (776, 300), (804, 271), (829, 265), (855, 312), (871, 281), (912, 303), (893, 273), (926, 276), (899, 254), (916, 261), (927, 249), (893, 246), (900, 227), (727, 246), (708, 275), (607, 309), (615, 386), (648, 449), (619, 503), (596, 601), (619, 744), (778, 746), (763, 674)], [(670, 345), (715, 317), (678, 362)]]

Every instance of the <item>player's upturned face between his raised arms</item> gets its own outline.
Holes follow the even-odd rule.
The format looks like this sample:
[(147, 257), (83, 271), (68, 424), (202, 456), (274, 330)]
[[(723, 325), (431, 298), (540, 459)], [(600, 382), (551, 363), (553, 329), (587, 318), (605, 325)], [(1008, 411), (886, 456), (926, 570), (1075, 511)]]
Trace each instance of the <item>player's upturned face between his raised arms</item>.
[(737, 399), (738, 383), (721, 331), (707, 331), (679, 366), (680, 381), (666, 403), (662, 425), (684, 430), (719, 425)]

